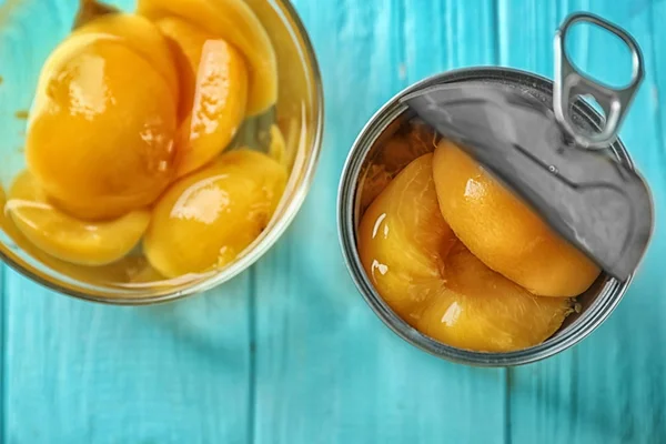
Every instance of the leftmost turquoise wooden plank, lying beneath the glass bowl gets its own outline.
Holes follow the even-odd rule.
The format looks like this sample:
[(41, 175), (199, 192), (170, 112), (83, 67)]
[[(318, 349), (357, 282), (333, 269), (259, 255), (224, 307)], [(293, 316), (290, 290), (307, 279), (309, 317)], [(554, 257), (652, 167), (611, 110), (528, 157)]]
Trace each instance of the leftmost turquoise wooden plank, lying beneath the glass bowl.
[[(36, 73), (56, 43), (44, 36), (65, 32), (77, 1), (17, 4), (12, 24), (0, 30), (6, 114), (13, 113), (9, 103), (29, 107)], [(18, 143), (21, 127), (6, 118), (0, 143)], [(9, 272), (0, 313), (0, 442), (249, 442), (251, 290), (245, 273), (182, 302), (113, 307), (57, 295)]]

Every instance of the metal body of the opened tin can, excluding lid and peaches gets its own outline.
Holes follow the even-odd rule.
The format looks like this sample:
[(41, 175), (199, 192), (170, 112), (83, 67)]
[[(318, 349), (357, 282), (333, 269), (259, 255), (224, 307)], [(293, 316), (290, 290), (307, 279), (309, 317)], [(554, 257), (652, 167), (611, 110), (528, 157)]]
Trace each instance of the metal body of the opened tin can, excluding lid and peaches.
[[(357, 228), (361, 219), (361, 185), (363, 174), (381, 149), (383, 141), (395, 128), (414, 118), (413, 112), (401, 101), (404, 97), (433, 85), (452, 82), (488, 82), (519, 89), (553, 109), (554, 82), (529, 72), (506, 68), (471, 68), (434, 75), (401, 91), (377, 111), (363, 128), (346, 160), (339, 190), (337, 222), (340, 242), (347, 269), (361, 294), (372, 310), (397, 335), (411, 344), (450, 361), (476, 366), (512, 366), (527, 364), (559, 353), (589, 335), (617, 306), (632, 278), (618, 281), (602, 273), (596, 282), (576, 301), (576, 311), (565, 320), (563, 326), (544, 343), (529, 349), (507, 353), (484, 353), (456, 349), (422, 334), (410, 326), (384, 302), (369, 280), (357, 250)], [(599, 132), (604, 120), (589, 104), (577, 100), (571, 118), (579, 128)], [(617, 162), (633, 169), (632, 159), (619, 139), (609, 149)], [(415, 155), (417, 157), (417, 155)]]

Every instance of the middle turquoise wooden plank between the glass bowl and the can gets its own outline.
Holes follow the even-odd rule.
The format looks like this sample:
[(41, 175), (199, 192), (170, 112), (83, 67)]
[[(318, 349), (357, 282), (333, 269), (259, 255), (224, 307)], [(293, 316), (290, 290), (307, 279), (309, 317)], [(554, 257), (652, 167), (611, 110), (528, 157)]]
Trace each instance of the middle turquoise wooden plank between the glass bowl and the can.
[(295, 4), (324, 75), (326, 134), (303, 210), (258, 265), (255, 441), (503, 442), (504, 371), (446, 363), (390, 332), (349, 278), (334, 205), (351, 144), (385, 100), (493, 62), (492, 2)]

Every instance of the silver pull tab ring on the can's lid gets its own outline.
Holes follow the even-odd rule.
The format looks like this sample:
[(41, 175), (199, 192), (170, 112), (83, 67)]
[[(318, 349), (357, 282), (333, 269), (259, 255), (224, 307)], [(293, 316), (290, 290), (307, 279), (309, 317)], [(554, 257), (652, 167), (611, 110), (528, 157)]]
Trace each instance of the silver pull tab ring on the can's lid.
[[(601, 84), (585, 73), (578, 71), (571, 62), (565, 38), (572, 24), (588, 22), (604, 28), (620, 38), (632, 52), (632, 81), (625, 88), (616, 89)], [(643, 81), (643, 54), (636, 40), (615, 24), (591, 13), (574, 13), (566, 18), (555, 32), (555, 82), (553, 88), (553, 108), (555, 117), (564, 130), (581, 148), (601, 150), (615, 141), (627, 109)], [(602, 132), (588, 133), (574, 125), (571, 110), (572, 102), (579, 95), (591, 94), (606, 113), (606, 122)]]

